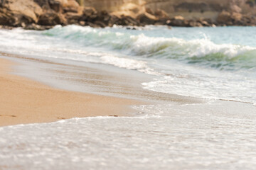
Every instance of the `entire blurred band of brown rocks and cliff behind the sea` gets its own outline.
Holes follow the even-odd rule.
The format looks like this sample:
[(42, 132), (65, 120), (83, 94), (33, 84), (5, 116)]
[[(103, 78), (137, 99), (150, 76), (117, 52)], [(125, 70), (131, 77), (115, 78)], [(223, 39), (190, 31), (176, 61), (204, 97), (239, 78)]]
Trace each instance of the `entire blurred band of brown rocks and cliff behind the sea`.
[(0, 28), (255, 26), (255, 6), (255, 0), (0, 0)]

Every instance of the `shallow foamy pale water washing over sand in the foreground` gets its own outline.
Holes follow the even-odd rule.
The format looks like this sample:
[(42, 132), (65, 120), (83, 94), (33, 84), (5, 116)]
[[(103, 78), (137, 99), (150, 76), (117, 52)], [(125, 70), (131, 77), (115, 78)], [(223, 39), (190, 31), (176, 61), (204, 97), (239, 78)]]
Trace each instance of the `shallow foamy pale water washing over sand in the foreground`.
[(254, 107), (225, 104), (0, 128), (0, 168), (255, 169)]

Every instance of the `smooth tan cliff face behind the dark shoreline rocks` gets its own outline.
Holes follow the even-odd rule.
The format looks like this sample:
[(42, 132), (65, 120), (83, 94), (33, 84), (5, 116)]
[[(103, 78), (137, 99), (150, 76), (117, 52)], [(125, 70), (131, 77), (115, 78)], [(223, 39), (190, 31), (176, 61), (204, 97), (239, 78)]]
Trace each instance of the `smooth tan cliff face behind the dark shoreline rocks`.
[(186, 19), (210, 18), (216, 21), (221, 11), (255, 13), (254, 0), (84, 0), (85, 6), (102, 11), (122, 11), (128, 3), (139, 4), (151, 11), (162, 9), (170, 17), (183, 16)]

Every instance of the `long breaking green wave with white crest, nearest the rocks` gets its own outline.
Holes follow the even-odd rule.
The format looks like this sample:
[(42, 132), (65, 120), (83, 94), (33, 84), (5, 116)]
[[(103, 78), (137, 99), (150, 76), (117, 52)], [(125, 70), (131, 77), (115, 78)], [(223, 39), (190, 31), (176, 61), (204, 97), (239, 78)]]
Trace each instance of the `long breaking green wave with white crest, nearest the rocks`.
[(215, 44), (204, 39), (149, 37), (132, 35), (120, 29), (97, 29), (80, 26), (57, 26), (43, 32), (88, 47), (104, 47), (126, 55), (178, 60), (215, 69), (253, 69), (256, 67), (256, 47)]

